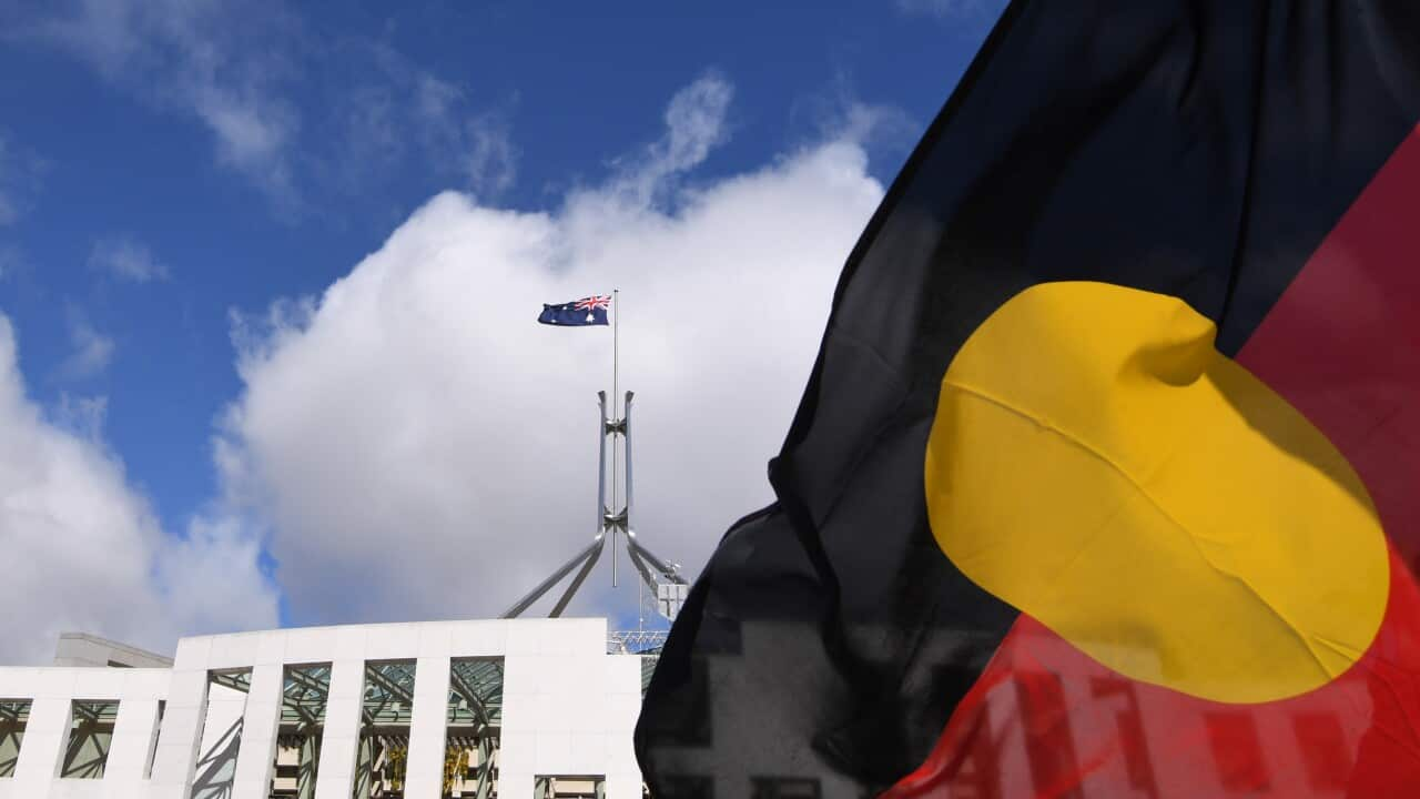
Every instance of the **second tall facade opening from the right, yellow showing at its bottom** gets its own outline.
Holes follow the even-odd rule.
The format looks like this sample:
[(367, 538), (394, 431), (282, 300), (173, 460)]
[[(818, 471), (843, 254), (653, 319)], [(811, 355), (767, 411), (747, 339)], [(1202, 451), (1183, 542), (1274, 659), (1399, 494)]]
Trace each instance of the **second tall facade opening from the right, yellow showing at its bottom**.
[(413, 705), (415, 661), (365, 664), (354, 799), (396, 799), (405, 795)]

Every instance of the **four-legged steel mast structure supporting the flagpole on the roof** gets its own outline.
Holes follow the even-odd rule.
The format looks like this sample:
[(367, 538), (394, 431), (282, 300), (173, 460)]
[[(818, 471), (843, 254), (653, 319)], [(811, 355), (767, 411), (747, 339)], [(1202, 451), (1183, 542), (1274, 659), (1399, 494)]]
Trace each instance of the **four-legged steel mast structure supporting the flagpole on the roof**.
[[(558, 597), (557, 603), (552, 606), (548, 618), (557, 618), (562, 616), (567, 610), (568, 603), (577, 596), (582, 584), (586, 583), (586, 576), (592, 573), (596, 567), (598, 560), (601, 560), (602, 550), (606, 549), (606, 535), (611, 533), (612, 539), (612, 563), (615, 569), (616, 547), (618, 543), (625, 542), (626, 556), (632, 566), (636, 569), (640, 581), (652, 590), (656, 596), (656, 607), (662, 616), (673, 620), (676, 613), (680, 610), (680, 603), (684, 601), (686, 593), (689, 591), (689, 584), (686, 579), (680, 576), (680, 564), (670, 563), (656, 557), (640, 540), (636, 537), (636, 532), (632, 529), (632, 468), (630, 468), (630, 405), (633, 392), (626, 392), (625, 414), (622, 418), (608, 418), (606, 415), (606, 392), (598, 391), (598, 405), (601, 408), (601, 422), (599, 428), (599, 442), (598, 442), (598, 483), (596, 483), (596, 536), (592, 543), (585, 549), (578, 552), (571, 560), (559, 566), (552, 572), (545, 580), (537, 584), (531, 591), (524, 594), (518, 601), (513, 603), (498, 618), (517, 618), (527, 608), (532, 607), (540, 599), (542, 599), (548, 591), (557, 587), (568, 574), (575, 570), (577, 574), (567, 584), (567, 589)], [(625, 478), (626, 478), (626, 503), (619, 509), (612, 509), (606, 505), (606, 442), (611, 439), (613, 452), (618, 445), (616, 436), (622, 436), (622, 442), (626, 448), (625, 458)], [(615, 485), (616, 475), (612, 475)], [(613, 498), (615, 502), (615, 498)], [(618, 535), (622, 533), (622, 535)], [(612, 586), (615, 587), (615, 579)]]

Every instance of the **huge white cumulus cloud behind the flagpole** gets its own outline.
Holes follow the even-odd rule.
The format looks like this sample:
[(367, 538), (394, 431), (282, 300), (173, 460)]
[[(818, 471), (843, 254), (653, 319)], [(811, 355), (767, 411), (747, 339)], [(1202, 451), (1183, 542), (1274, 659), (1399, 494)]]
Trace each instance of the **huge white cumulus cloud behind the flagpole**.
[(555, 210), (439, 195), (320, 297), (234, 318), (224, 502), (268, 536), (293, 621), (493, 614), (591, 540), (611, 331), (538, 326), (545, 301), (622, 290), (653, 552), (693, 573), (770, 499), (765, 462), (882, 186), (834, 136), (686, 188), (730, 97), (687, 87), (660, 138)]

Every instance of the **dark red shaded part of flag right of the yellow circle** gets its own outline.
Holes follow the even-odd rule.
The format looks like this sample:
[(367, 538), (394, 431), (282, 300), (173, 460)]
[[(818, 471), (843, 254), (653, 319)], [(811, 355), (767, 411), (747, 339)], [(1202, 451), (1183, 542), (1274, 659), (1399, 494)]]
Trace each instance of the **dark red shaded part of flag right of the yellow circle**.
[(1262, 320), (1238, 363), (1350, 461), (1420, 557), (1420, 134), (1390, 156)]

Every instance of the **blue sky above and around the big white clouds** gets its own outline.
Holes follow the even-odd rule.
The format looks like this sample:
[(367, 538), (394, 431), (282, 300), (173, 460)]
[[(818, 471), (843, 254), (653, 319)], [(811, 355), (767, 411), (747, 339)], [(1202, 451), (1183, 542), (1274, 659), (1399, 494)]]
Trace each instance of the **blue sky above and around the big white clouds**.
[[(23, 407), (38, 414), (33, 424), (47, 425), (45, 435), (70, 435), (116, 469), (146, 509), (139, 515), (151, 516), (142, 525), (159, 537), (190, 539), (202, 519), (246, 530), (233, 535), (260, 549), (283, 623), (339, 620), (304, 610), (280, 572), (294, 557), (283, 553), (294, 550), (271, 543), (315, 523), (310, 513), (293, 510), (295, 499), (266, 496), (285, 488), (246, 492), (233, 476), (256, 472), (257, 485), (287, 473), (273, 465), (280, 456), (261, 444), (264, 434), (243, 425), (261, 417), (261, 381), (280, 371), (281, 348), (318, 338), (312, 314), (325, 311), (332, 284), (366, 256), (396, 252), (386, 240), (413, 229), (419, 218), (410, 215), (444, 191), (466, 205), (435, 203), (426, 216), (490, 209), (528, 220), (551, 215), (581, 230), (574, 209), (582, 198), (645, 181), (652, 188), (642, 210), (673, 225), (696, 198), (791, 173), (785, 163), (832, 142), (866, 156), (859, 178), (880, 191), (998, 7), (487, 1), (409, 3), (392, 16), (382, 4), (325, 1), (0, 1), (0, 314), (17, 341)], [(680, 122), (677, 98), (689, 115)], [(700, 115), (709, 127), (697, 127)], [(861, 205), (866, 210), (839, 227), (861, 226), (853, 220), (872, 203)], [(851, 245), (856, 232), (839, 239)], [(836, 259), (818, 259), (826, 263), (816, 287), (831, 289), (846, 254), (835, 246)], [(557, 257), (550, 263), (555, 276)], [(727, 272), (719, 301), (734, 301), (747, 284)], [(491, 276), (473, 280), (466, 313), (484, 314), (504, 293)], [(683, 301), (649, 287), (642, 299)], [(527, 311), (531, 324), (537, 307)], [(450, 357), (460, 354), (480, 360), (476, 351)], [(790, 382), (785, 397), (797, 397), (801, 380)], [(496, 411), (479, 402), (474, 392), (463, 407)], [(231, 422), (233, 408), (243, 422)], [(362, 419), (351, 421), (355, 429)], [(785, 421), (767, 429), (782, 431)], [(694, 428), (663, 435), (687, 432)], [(775, 444), (757, 445), (755, 462)], [(226, 449), (244, 466), (224, 462)], [(750, 509), (726, 508), (706, 529)], [(33, 535), (21, 525), (0, 518), (0, 537)], [(169, 584), (153, 601), (182, 601), (176, 591)], [(444, 607), (400, 606), (400, 594), (389, 601), (410, 613)], [(109, 624), (85, 613), (44, 630)], [(158, 640), (261, 621), (219, 616), (111, 631)]]

